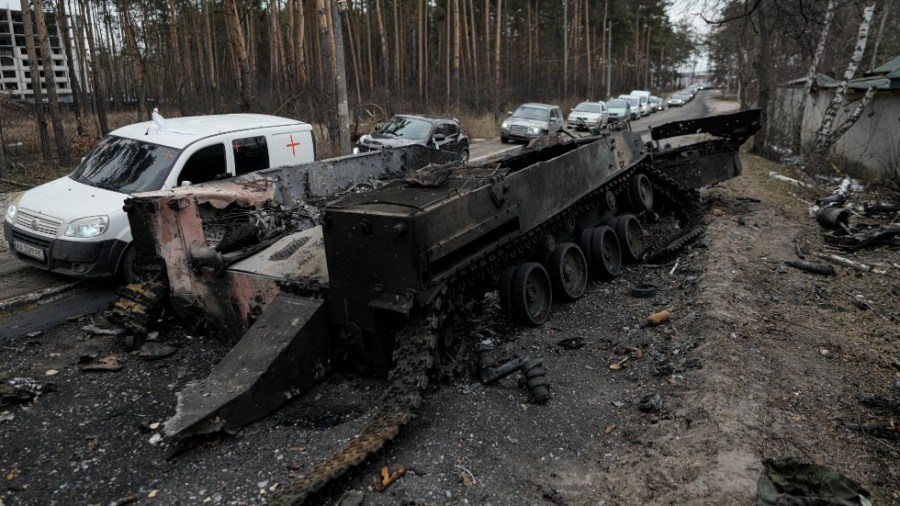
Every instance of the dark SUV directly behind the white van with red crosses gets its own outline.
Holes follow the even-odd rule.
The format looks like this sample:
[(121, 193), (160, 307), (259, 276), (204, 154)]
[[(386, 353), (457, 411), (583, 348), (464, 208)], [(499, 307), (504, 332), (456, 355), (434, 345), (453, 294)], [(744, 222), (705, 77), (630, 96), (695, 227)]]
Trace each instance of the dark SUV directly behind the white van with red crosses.
[(398, 114), (372, 134), (359, 138), (354, 153), (421, 144), (456, 154), (463, 164), (469, 162), (469, 138), (456, 118), (427, 114)]

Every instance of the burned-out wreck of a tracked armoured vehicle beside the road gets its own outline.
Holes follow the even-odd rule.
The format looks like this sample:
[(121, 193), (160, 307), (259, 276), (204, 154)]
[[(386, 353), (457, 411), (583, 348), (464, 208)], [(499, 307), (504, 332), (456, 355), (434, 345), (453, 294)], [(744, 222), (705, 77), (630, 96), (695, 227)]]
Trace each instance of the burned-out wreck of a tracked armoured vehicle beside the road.
[[(409, 420), (446, 346), (442, 336), (472, 301), (497, 290), (514, 321), (540, 325), (554, 300), (581, 297), (589, 278), (614, 277), (623, 261), (652, 258), (696, 237), (701, 213), (689, 189), (732, 177), (739, 168), (737, 139), (758, 128), (758, 111), (723, 118), (712, 125), (726, 122), (742, 136), (703, 141), (694, 150), (660, 152), (629, 130), (602, 132), (491, 164), (431, 167), (425, 185), (421, 177), (409, 178), (412, 184), (402, 178), (441, 160), (424, 156), (416, 164), (401, 150), (385, 150), (316, 162), (355, 167), (363, 163), (359, 157), (382, 157), (366, 159), (368, 169), (397, 178), (368, 191), (347, 192), (352, 178), (336, 184), (337, 171), (328, 172), (334, 191), (301, 191), (290, 169), (281, 169), (248, 179), (259, 181), (257, 193), (238, 182), (240, 188), (223, 192), (226, 199), (215, 197), (222, 183), (136, 197), (129, 212), (135, 240), (142, 235), (145, 248), (165, 264), (173, 305), (181, 306), (176, 311), (231, 335), (249, 328), (208, 380), (180, 394), (167, 436), (233, 430), (262, 418), (308, 388), (338, 356), (386, 375), (385, 399), (360, 437), (280, 489), (275, 503), (302, 500)], [(681, 178), (693, 182), (688, 188), (664, 170), (695, 162), (704, 167), (699, 172), (714, 174)], [(301, 209), (341, 191), (315, 207), (320, 227), (282, 236), (265, 228), (302, 221)], [(679, 223), (645, 242), (660, 216)], [(227, 233), (216, 220), (232, 218), (244, 228), (247, 222), (264, 228), (234, 258), (211, 240)], [(237, 258), (244, 253), (249, 256)], [(300, 301), (304, 311), (285, 309)], [(539, 366), (529, 361), (525, 374), (545, 388)]]

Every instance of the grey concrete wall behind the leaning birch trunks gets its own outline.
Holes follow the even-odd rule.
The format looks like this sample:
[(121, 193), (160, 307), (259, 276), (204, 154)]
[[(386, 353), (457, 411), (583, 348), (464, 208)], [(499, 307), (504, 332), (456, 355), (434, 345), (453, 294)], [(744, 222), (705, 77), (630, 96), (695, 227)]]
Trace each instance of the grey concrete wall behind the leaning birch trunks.
[[(853, 113), (862, 95), (862, 92), (854, 93), (852, 101), (841, 106), (835, 126)], [(809, 97), (802, 125), (805, 149), (815, 142), (816, 131), (833, 96), (833, 90), (819, 90)], [(785, 136), (796, 132), (802, 98), (803, 90), (798, 88), (779, 88), (776, 92), (772, 123)], [(781, 142), (777, 136), (773, 138), (784, 147), (791, 145), (791, 138)], [(868, 180), (900, 177), (900, 92), (884, 90), (876, 93), (859, 121), (834, 145), (832, 153), (846, 162), (842, 169), (853, 176)]]

